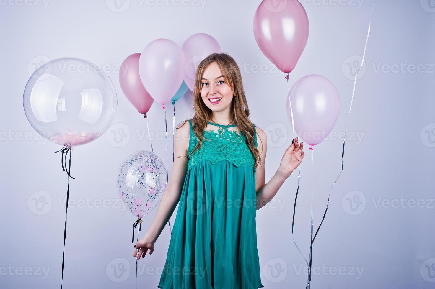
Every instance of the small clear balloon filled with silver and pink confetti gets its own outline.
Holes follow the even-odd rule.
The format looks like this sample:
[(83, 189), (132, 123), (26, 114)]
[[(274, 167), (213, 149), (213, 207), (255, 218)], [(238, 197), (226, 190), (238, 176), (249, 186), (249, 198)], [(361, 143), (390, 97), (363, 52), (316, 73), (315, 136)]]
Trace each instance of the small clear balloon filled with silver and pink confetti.
[(146, 216), (157, 206), (166, 187), (166, 168), (154, 153), (137, 151), (119, 168), (119, 196), (137, 218)]

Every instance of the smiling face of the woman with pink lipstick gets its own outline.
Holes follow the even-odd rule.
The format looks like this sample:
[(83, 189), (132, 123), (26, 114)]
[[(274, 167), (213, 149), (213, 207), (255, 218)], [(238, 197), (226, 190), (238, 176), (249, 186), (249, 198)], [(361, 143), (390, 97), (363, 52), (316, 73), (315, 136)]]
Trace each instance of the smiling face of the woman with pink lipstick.
[(218, 63), (210, 63), (201, 78), (201, 98), (205, 105), (213, 112), (227, 111), (229, 114), (233, 96)]

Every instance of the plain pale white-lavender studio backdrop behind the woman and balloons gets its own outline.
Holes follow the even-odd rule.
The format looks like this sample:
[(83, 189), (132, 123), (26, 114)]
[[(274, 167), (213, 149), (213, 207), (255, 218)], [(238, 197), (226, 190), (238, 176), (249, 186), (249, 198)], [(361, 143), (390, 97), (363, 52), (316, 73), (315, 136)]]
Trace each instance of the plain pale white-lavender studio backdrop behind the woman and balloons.
[[(341, 169), (341, 146), (367, 34), (372, 1), (301, 1), (308, 43), (289, 86), (307, 74), (331, 80), (341, 113), (327, 140), (301, 167), (295, 239), (308, 257), (313, 177), (314, 224)], [(430, 0), (375, 3), (365, 66), (358, 73), (349, 119), (345, 168), (313, 246), (311, 288), (433, 288), (435, 282), (434, 76), (435, 7)], [(34, 132), (23, 111), (24, 86), (43, 62), (73, 56), (105, 67), (117, 90), (113, 125), (73, 150), (65, 245), (64, 288), (134, 288), (131, 226), (135, 218), (117, 193), (117, 170), (137, 150), (150, 150), (146, 120), (121, 92), (120, 63), (157, 38), (181, 45), (208, 33), (240, 65), (251, 120), (268, 134), (266, 181), (293, 138), (285, 111), (284, 73), (261, 53), (252, 22), (260, 1), (0, 1), (2, 185), (1, 288), (60, 286), (67, 175), (61, 149)], [(433, 3), (432, 3), (433, 4)], [(420, 69), (417, 69), (420, 67)], [(170, 80), (168, 80), (170, 81)], [(166, 105), (172, 135), (174, 107)], [(177, 125), (193, 116), (188, 91), (176, 103)], [(148, 115), (154, 153), (166, 155), (165, 114)], [(265, 288), (305, 288), (307, 265), (293, 244), (294, 172), (257, 212), (261, 281)], [(41, 196), (47, 207), (41, 213)], [(34, 203), (36, 202), (36, 203)], [(41, 205), (41, 204), (39, 204)], [(177, 210), (177, 209), (176, 209)], [(154, 212), (144, 218), (143, 236)], [(171, 221), (175, 220), (174, 212)], [(152, 256), (139, 262), (138, 287), (157, 288), (171, 234), (166, 227)]]

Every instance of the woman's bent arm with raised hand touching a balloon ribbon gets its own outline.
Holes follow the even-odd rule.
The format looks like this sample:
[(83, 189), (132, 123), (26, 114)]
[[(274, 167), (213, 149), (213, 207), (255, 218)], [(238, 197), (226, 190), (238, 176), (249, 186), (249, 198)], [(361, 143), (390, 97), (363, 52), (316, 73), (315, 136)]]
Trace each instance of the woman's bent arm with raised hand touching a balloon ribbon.
[(258, 127), (256, 130), (257, 139), (260, 139), (260, 141), (257, 141), (257, 143), (258, 152), (261, 156), (261, 165), (259, 163), (256, 167), (255, 191), (257, 192), (257, 209), (261, 209), (263, 206), (269, 203), (271, 199), (273, 199), (284, 181), (288, 178), (288, 176), (290, 176), (293, 170), (299, 166), (305, 156), (305, 153), (302, 152), (304, 143), (301, 143), (299, 146), (298, 138), (296, 138), (294, 143), (292, 143), (285, 150), (280, 166), (278, 167), (274, 176), (270, 179), (270, 181), (268, 181), (268, 183), (264, 184), (264, 161), (266, 159), (267, 135)]

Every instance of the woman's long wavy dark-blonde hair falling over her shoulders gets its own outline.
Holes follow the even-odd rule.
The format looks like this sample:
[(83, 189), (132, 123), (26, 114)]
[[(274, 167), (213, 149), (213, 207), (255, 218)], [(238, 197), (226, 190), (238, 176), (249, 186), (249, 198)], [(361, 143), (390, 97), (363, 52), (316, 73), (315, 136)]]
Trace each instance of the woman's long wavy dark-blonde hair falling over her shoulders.
[[(225, 80), (234, 93), (233, 100), (231, 101), (230, 120), (234, 124), (237, 124), (239, 130), (245, 136), (246, 144), (255, 159), (254, 167), (256, 167), (257, 164), (260, 163), (261, 157), (254, 143), (254, 124), (249, 118), (250, 114), (248, 102), (246, 101), (246, 96), (243, 89), (241, 73), (237, 63), (226, 53), (210, 54), (198, 65), (195, 73), (194, 91), (192, 93), (195, 114), (191, 119), (191, 122), (193, 131), (199, 141), (192, 152), (184, 156), (193, 154), (201, 147), (202, 141), (204, 139), (203, 133), (207, 127), (207, 121), (211, 121), (212, 111), (205, 105), (201, 98), (201, 77), (204, 74), (204, 70), (207, 68), (207, 66), (213, 62), (218, 63)], [(181, 126), (178, 126), (177, 129), (179, 127)]]

